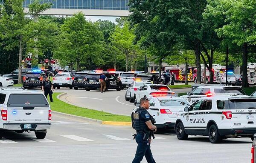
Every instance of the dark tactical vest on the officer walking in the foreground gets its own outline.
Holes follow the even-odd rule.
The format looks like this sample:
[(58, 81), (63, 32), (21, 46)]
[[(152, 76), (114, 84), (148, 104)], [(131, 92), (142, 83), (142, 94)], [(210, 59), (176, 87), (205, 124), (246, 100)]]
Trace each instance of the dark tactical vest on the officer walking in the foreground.
[(138, 132), (141, 132), (141, 131), (148, 131), (148, 127), (146, 125), (146, 123), (140, 119), (140, 115), (142, 112), (145, 112), (144, 111), (145, 109), (142, 109), (142, 108), (139, 108), (135, 113), (134, 113), (134, 127), (135, 127), (135, 130)]

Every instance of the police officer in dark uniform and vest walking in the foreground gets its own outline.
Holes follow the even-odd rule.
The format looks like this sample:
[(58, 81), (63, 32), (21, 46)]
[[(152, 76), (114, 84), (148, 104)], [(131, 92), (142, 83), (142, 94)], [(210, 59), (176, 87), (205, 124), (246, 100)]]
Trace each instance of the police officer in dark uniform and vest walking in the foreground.
[(147, 97), (140, 99), (140, 108), (134, 113), (134, 126), (136, 129), (136, 142), (138, 144), (137, 151), (132, 163), (140, 163), (145, 156), (148, 163), (155, 163), (150, 149), (151, 137), (148, 137), (148, 132), (157, 131), (157, 127), (151, 122), (151, 115), (148, 113), (149, 100)]

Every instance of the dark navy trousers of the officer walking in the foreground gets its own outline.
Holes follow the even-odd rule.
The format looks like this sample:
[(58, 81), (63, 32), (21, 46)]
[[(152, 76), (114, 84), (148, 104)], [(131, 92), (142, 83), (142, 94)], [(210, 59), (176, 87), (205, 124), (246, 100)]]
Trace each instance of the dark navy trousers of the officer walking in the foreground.
[(140, 163), (144, 156), (148, 163), (156, 163), (151, 153), (150, 144), (148, 141), (143, 140), (143, 136), (144, 134), (137, 134), (135, 137), (138, 146), (132, 163)]

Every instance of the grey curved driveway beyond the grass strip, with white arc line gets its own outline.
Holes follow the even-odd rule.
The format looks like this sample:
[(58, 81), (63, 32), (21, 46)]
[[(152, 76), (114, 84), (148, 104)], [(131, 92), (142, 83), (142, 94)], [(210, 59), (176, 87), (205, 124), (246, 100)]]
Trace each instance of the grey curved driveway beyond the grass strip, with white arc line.
[[(173, 89), (173, 91), (178, 94), (190, 92), (191, 88)], [(67, 95), (62, 96), (61, 100), (88, 109), (130, 116), (132, 110), (135, 108), (133, 103), (125, 101), (125, 90), (109, 90), (108, 92), (101, 93), (99, 90), (58, 89), (55, 92), (67, 92)]]

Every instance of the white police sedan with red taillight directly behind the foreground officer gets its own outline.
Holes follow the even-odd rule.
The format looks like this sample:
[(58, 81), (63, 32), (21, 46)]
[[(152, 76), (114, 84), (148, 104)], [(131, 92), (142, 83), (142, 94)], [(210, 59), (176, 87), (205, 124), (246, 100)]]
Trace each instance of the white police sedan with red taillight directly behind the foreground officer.
[[(173, 129), (179, 112), (183, 112), (186, 106), (190, 106), (185, 99), (173, 95), (157, 94), (148, 98), (150, 107), (147, 110), (156, 120), (157, 129)], [(132, 127), (134, 128), (133, 114), (131, 113)]]

